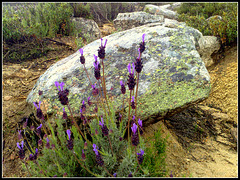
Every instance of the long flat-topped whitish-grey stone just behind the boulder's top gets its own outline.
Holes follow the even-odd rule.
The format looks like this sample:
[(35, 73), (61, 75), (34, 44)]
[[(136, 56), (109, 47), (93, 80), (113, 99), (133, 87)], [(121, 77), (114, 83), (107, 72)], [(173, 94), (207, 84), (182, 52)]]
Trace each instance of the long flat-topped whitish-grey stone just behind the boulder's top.
[(116, 30), (127, 30), (134, 27), (142, 26), (148, 23), (163, 22), (163, 16), (152, 15), (146, 12), (119, 13), (113, 20)]

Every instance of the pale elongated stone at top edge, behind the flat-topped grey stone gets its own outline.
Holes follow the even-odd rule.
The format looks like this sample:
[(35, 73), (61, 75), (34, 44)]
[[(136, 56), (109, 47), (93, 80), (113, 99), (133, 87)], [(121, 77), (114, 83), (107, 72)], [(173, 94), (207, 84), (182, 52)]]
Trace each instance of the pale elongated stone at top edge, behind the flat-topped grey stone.
[(161, 7), (161, 6), (155, 6), (152, 4), (147, 4), (143, 11), (150, 13), (150, 14), (156, 14), (156, 15), (163, 15), (164, 18), (169, 18), (169, 19), (177, 19), (178, 14), (174, 11), (171, 11), (169, 9), (166, 9), (167, 6)]

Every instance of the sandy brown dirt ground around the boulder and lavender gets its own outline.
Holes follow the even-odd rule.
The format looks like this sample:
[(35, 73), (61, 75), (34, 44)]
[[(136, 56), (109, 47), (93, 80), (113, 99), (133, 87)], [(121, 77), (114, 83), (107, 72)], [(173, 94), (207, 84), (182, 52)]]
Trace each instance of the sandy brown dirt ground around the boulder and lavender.
[[(26, 98), (37, 79), (52, 64), (75, 52), (73, 39), (56, 39), (69, 46), (51, 44), (51, 50), (45, 57), (21, 64), (3, 62), (2, 68), (2, 131), (3, 131), (3, 177), (26, 177), (21, 170), (17, 154), (18, 122), (30, 112), (26, 111)], [(72, 42), (72, 43), (70, 43)], [(237, 124), (237, 46), (228, 49), (225, 57), (209, 68), (213, 83), (210, 97), (202, 105), (220, 108)], [(171, 128), (170, 120), (158, 122), (146, 129), (151, 135), (159, 126), (168, 138), (168, 168), (176, 177), (237, 177), (238, 156), (233, 143), (219, 143), (215, 136), (205, 133), (200, 139), (191, 140), (184, 146), (177, 130)], [(168, 126), (169, 125), (169, 126)], [(203, 127), (203, 126), (202, 126)], [(204, 141), (204, 143), (202, 142)]]

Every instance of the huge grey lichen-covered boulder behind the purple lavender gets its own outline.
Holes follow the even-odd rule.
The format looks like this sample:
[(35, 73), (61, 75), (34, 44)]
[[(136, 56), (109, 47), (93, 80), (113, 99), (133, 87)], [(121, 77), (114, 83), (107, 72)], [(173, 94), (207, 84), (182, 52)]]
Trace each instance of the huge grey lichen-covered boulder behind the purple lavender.
[[(211, 89), (210, 76), (200, 58), (195, 44), (202, 34), (186, 25), (175, 28), (164, 27), (161, 23), (151, 23), (106, 36), (105, 79), (106, 89), (116, 109), (121, 109), (122, 94), (119, 81), (127, 82), (128, 63), (138, 56), (139, 43), (145, 33), (146, 49), (142, 55), (143, 70), (139, 81), (139, 116), (144, 122), (156, 120), (156, 117), (172, 115), (187, 107), (206, 99)], [(96, 82), (93, 74), (93, 54), (101, 44), (100, 39), (83, 47), (92, 83)], [(62, 105), (58, 101), (55, 81), (64, 82), (70, 91), (69, 101), (73, 112), (79, 113), (82, 100), (92, 97), (83, 65), (79, 62), (80, 52), (68, 56), (52, 65), (41, 75), (27, 97), (33, 106), (34, 101), (44, 98), (48, 113)], [(128, 87), (125, 98), (129, 96)], [(39, 98), (38, 91), (43, 91)], [(125, 103), (127, 108), (127, 103)], [(68, 112), (68, 109), (65, 108)], [(149, 120), (150, 119), (150, 120)]]

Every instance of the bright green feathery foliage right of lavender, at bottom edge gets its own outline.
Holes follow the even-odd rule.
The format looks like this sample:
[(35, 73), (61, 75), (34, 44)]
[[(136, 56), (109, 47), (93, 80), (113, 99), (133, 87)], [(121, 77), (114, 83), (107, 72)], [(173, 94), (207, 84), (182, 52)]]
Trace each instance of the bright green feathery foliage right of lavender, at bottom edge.
[(163, 138), (161, 128), (154, 133), (154, 137), (147, 140), (150, 146), (146, 148), (146, 155), (142, 164), (143, 168), (149, 172), (151, 177), (166, 176), (166, 146), (167, 137)]

